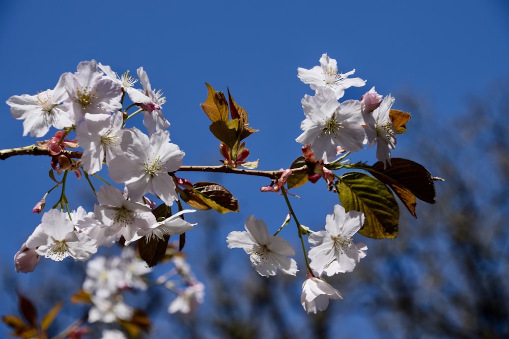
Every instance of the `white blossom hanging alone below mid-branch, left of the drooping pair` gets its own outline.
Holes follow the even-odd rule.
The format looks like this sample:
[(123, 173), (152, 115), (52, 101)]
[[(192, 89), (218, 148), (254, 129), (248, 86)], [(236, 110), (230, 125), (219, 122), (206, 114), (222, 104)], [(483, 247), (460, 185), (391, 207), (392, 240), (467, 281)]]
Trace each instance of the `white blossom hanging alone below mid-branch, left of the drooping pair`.
[(249, 254), (252, 266), (262, 276), (275, 275), (279, 268), (286, 274), (295, 275), (297, 263), (287, 256), (295, 251), (282, 237), (269, 235), (267, 225), (254, 215), (244, 225), (247, 232), (234, 231), (227, 237), (228, 248), (241, 248)]

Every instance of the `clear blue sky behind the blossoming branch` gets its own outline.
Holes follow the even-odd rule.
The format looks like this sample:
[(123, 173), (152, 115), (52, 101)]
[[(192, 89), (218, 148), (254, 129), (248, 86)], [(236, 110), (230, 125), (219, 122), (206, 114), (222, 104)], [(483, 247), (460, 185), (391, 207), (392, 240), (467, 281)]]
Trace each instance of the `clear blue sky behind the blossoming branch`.
[[(206, 99), (205, 82), (216, 90), (229, 86), (246, 108), (251, 126), (260, 129), (247, 140), (250, 158), (261, 160), (260, 169), (272, 170), (288, 167), (300, 155), (295, 142), (304, 118), (300, 101), (313, 91), (297, 78), (297, 67), (318, 65), (324, 52), (337, 60), (339, 70), (356, 69), (355, 76), (367, 79), (365, 87), (348, 89), (343, 99), (359, 99), (372, 86), (395, 96), (397, 109), (405, 109), (398, 106), (398, 93), (425, 98), (434, 108), (433, 119), (409, 127), (430, 136), (436, 124), (465, 108), (469, 96), (509, 75), (509, 5), (502, 0), (18, 1), (3, 2), (0, 18), (2, 101), (53, 88), (82, 60), (96, 59), (119, 74), (143, 66), (152, 86), (164, 91), (170, 136), (186, 152), (186, 165), (218, 164), (218, 142), (199, 106)], [(21, 136), (22, 122), (11, 117), (7, 105), (3, 111), (0, 148), (35, 143)], [(405, 136), (400, 145), (401, 153), (397, 147), (393, 156), (411, 159)], [(374, 162), (374, 150), (358, 157)], [(0, 248), (2, 270), (14, 269), (13, 255), (40, 223), (31, 209), (52, 186), (48, 170), (49, 160), (41, 157), (0, 163), (0, 212), (9, 239)], [(221, 216), (224, 237), (242, 229), (250, 214), (273, 227), (285, 217), (281, 197), (259, 192), (268, 184), (263, 179), (212, 174), (189, 179), (217, 180), (239, 199), (238, 214)], [(83, 187), (84, 182), (73, 184), (77, 197)], [(297, 192), (303, 199), (296, 206), (309, 211), (301, 223), (323, 225), (337, 202), (324, 191), (308, 184)], [(78, 204), (77, 198), (71, 202)], [(45, 267), (50, 264), (58, 265)], [(35, 274), (19, 275), (19, 283), (43, 276)]]

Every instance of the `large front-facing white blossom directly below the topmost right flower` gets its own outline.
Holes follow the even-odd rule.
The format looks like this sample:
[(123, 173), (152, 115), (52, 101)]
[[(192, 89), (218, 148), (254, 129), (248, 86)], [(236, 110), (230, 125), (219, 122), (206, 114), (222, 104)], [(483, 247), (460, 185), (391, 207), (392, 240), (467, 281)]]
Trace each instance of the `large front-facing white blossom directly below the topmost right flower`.
[(311, 144), (315, 156), (330, 163), (337, 155), (337, 146), (346, 151), (360, 150), (366, 138), (362, 106), (358, 100), (338, 103), (331, 90), (320, 88), (314, 97), (302, 99), (306, 118), (300, 128), (304, 131), (297, 139), (302, 144)]

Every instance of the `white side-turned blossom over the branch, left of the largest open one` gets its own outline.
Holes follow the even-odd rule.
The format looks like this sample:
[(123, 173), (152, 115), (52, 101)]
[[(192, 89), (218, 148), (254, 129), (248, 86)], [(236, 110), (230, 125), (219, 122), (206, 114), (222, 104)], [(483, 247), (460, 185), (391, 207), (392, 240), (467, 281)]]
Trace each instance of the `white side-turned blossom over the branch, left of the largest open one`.
[[(87, 118), (89, 113), (85, 114)], [(83, 148), (81, 164), (89, 174), (101, 170), (103, 161), (108, 164), (111, 159), (121, 155), (123, 118), (122, 112), (106, 116), (105, 120), (84, 120), (76, 127), (76, 140)]]

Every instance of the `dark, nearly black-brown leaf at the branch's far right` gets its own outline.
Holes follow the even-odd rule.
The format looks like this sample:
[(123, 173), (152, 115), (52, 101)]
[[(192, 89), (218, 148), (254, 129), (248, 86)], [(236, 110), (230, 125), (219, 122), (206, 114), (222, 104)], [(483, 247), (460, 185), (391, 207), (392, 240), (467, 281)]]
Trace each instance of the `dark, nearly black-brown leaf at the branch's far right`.
[(383, 163), (377, 162), (368, 170), (391, 188), (400, 186), (424, 202), (435, 203), (435, 180), (424, 166), (401, 158), (392, 158), (390, 163), (392, 166), (383, 169)]

